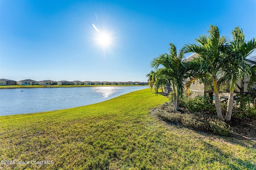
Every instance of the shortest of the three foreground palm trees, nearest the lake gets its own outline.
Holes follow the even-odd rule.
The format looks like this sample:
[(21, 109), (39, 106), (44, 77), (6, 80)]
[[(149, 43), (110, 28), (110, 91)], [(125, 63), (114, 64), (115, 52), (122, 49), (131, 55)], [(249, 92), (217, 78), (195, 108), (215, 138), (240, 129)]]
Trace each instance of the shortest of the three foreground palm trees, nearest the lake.
[[(169, 54), (164, 53), (152, 60), (151, 66), (157, 70), (159, 75), (164, 75), (168, 82), (172, 82), (174, 91), (174, 109), (179, 110), (179, 99), (184, 92), (184, 82), (186, 78), (186, 62), (183, 60), (184, 55), (177, 55), (176, 47), (169, 44)], [(162, 66), (162, 68), (159, 68)]]

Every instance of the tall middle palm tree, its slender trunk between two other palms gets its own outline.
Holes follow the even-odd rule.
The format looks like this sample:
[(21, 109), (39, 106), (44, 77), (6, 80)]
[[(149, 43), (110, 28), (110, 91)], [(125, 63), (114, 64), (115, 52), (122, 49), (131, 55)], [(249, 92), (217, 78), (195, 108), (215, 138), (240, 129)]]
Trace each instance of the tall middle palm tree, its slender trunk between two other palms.
[(198, 70), (202, 73), (208, 73), (212, 78), (217, 115), (223, 121), (224, 118), (218, 94), (217, 74), (225, 64), (224, 45), (228, 43), (228, 39), (224, 36), (220, 37), (218, 27), (215, 25), (210, 25), (208, 33), (210, 36), (201, 35), (199, 38), (196, 38), (196, 42), (199, 44), (185, 45), (181, 51), (183, 53), (194, 52), (198, 54), (198, 57), (196, 57), (200, 63)]

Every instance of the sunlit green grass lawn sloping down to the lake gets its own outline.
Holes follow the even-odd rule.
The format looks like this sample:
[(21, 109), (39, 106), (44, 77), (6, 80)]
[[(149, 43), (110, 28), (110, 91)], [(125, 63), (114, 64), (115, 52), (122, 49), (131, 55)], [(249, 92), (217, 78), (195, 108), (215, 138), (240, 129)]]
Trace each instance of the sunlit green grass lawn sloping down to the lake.
[(148, 114), (166, 100), (144, 89), (89, 106), (2, 116), (0, 160), (14, 164), (0, 169), (256, 169), (255, 142), (168, 125)]

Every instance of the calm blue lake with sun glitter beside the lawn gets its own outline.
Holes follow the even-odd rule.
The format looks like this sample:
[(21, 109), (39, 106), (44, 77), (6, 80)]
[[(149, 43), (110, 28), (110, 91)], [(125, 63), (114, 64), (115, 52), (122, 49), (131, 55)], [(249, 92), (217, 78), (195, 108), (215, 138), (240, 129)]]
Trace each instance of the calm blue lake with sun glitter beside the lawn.
[(97, 86), (0, 89), (0, 116), (85, 106), (147, 87)]

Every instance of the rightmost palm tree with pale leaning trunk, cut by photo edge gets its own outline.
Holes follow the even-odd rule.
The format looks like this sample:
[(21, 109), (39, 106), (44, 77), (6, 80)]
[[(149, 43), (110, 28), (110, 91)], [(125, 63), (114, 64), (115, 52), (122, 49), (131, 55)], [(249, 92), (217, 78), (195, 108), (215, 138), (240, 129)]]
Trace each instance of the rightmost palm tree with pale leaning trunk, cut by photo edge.
[(231, 120), (232, 108), (234, 103), (234, 89), (239, 79), (243, 79), (244, 75), (250, 76), (248, 88), (256, 84), (256, 72), (255, 65), (250, 67), (247, 63), (246, 57), (256, 49), (255, 39), (250, 40), (248, 43), (244, 40), (244, 34), (242, 29), (235, 27), (231, 32), (233, 40), (230, 42), (231, 45), (227, 46), (227, 64), (223, 70), (225, 77), (230, 85), (230, 92), (228, 97), (228, 107), (226, 121)]

